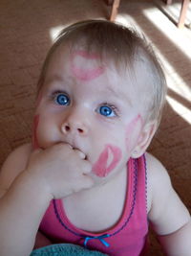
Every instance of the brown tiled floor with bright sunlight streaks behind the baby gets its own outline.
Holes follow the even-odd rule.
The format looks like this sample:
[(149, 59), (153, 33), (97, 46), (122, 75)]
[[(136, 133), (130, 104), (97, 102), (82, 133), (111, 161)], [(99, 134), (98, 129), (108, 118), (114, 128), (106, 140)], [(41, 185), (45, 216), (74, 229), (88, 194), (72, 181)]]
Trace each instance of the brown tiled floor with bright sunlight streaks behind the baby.
[[(53, 36), (74, 21), (107, 18), (109, 12), (104, 0), (0, 1), (0, 164), (31, 139), (35, 84)], [(167, 105), (149, 151), (169, 170), (191, 210), (191, 30), (177, 29), (179, 12), (180, 1), (166, 7), (158, 0), (121, 0), (117, 21), (143, 32), (163, 62)], [(151, 255), (161, 255), (155, 243)]]

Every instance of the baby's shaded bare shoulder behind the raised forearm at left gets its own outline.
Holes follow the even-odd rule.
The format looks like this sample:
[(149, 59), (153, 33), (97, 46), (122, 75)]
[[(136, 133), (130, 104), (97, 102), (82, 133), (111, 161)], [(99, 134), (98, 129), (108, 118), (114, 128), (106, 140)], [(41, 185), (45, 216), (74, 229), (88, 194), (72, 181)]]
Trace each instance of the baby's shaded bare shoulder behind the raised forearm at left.
[(0, 171), (0, 197), (3, 191), (7, 191), (11, 182), (25, 168), (32, 152), (31, 144), (24, 144), (10, 153)]

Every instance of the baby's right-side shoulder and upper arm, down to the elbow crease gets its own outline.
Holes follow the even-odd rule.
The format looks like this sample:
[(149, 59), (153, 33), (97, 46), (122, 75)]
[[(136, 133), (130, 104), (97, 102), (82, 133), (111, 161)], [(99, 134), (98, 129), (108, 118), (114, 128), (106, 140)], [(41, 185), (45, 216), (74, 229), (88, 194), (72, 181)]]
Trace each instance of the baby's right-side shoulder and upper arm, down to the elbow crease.
[(190, 215), (174, 190), (164, 166), (153, 155), (146, 153), (148, 184), (148, 220), (159, 235), (178, 230)]

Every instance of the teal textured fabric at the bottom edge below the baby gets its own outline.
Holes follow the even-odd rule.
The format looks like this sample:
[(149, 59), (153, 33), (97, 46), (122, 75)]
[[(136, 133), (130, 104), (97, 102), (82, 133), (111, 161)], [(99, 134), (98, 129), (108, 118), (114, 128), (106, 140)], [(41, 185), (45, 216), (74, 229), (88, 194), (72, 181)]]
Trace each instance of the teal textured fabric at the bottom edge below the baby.
[(89, 250), (75, 244), (52, 244), (32, 251), (30, 256), (103, 256), (96, 250)]

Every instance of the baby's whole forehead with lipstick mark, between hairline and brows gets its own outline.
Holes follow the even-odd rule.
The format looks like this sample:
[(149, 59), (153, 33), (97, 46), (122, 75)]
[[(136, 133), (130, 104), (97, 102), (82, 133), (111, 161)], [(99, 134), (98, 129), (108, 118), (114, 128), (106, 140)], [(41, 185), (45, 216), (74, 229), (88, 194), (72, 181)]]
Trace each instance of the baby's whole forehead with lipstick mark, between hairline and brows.
[(128, 99), (138, 93), (136, 75), (130, 64), (117, 64), (115, 59), (101, 56), (96, 50), (88, 51), (83, 46), (58, 46), (49, 61), (45, 79), (96, 84), (97, 90), (101, 88), (122, 98), (128, 96)]

